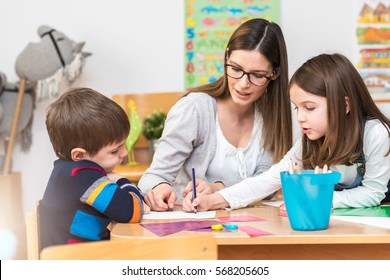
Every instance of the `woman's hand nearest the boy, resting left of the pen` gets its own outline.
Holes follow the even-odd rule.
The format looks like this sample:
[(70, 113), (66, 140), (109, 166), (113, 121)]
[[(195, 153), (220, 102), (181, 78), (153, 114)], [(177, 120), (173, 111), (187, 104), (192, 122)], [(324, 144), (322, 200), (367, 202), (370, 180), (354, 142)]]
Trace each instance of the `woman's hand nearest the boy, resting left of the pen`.
[(145, 202), (154, 211), (167, 211), (172, 209), (176, 199), (176, 192), (168, 183), (157, 185), (145, 195)]

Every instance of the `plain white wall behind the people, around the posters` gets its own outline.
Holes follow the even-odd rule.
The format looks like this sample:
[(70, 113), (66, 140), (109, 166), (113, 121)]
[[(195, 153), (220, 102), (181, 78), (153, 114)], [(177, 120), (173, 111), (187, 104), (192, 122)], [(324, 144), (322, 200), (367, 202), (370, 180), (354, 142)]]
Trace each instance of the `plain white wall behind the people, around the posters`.
[[(281, 27), (290, 74), (320, 52), (340, 52), (354, 60), (354, 0), (281, 0)], [(113, 93), (184, 89), (183, 0), (0, 0), (0, 71), (17, 81), (14, 63), (28, 42), (37, 42), (41, 24), (85, 41), (92, 52), (75, 86)], [(16, 143), (13, 170), (22, 172), (24, 210), (40, 199), (55, 160), (45, 130), (45, 108), (34, 114), (29, 153)], [(389, 105), (382, 105), (389, 115)], [(1, 146), (0, 146), (1, 147)], [(0, 152), (1, 154), (1, 152)]]

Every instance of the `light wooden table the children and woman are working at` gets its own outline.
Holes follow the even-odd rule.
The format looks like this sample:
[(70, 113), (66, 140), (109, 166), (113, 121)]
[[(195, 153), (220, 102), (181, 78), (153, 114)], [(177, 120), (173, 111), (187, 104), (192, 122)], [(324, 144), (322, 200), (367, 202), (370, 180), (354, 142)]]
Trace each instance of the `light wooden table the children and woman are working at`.
[[(279, 216), (278, 207), (262, 205), (233, 211), (217, 211), (217, 217), (234, 215), (251, 215), (265, 219), (262, 222), (236, 224), (239, 226), (250, 225), (273, 235), (249, 237), (246, 233), (237, 230), (232, 232), (213, 231), (211, 233), (181, 231), (169, 236), (213, 234), (218, 241), (218, 258), (223, 260), (390, 259), (390, 229), (331, 219), (329, 228), (326, 230), (295, 231), (291, 229), (287, 217)], [(142, 221), (142, 223), (156, 222), (168, 222), (168, 220)], [(112, 240), (126, 239), (132, 236), (156, 237), (140, 224), (114, 223), (112, 225)]]

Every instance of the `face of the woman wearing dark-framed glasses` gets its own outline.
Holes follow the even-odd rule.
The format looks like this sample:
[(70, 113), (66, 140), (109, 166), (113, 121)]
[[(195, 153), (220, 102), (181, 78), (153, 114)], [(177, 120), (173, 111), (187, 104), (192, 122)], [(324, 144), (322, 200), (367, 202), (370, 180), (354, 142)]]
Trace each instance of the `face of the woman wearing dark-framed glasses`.
[[(227, 66), (226, 71), (231, 71), (231, 75), (236, 76), (237, 73), (240, 73), (242, 70), (250, 73), (252, 82), (258, 81), (259, 77), (270, 77), (272, 75), (271, 64), (257, 51), (233, 51), (226, 63), (229, 65)], [(229, 74), (229, 72), (227, 73)], [(259, 99), (266, 91), (269, 83), (267, 78), (264, 78), (264, 85), (254, 85), (249, 81), (248, 75), (245, 74), (241, 78), (235, 79), (229, 76), (227, 78), (233, 102), (240, 105), (251, 105)]]

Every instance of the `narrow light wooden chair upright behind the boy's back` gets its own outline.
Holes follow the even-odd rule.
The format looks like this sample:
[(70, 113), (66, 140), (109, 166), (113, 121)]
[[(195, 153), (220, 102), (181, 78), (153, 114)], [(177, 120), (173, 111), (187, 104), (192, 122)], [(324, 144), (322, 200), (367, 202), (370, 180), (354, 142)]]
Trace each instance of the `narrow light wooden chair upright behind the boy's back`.
[(27, 258), (29, 260), (39, 260), (40, 237), (39, 237), (39, 201), (33, 210), (27, 213), (26, 217), (27, 234)]

